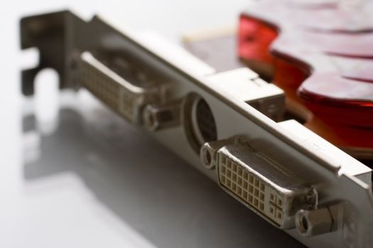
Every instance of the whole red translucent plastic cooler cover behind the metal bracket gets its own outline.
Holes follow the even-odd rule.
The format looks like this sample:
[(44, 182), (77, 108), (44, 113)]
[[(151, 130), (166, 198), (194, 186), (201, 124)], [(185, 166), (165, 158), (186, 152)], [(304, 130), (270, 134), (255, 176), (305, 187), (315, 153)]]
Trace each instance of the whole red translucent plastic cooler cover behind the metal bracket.
[[(308, 30), (287, 48), (306, 44), (325, 56), (342, 57), (342, 67), (313, 71), (314, 64), (301, 62), (302, 54), (271, 51), (281, 35), (275, 26), (242, 15), (239, 18), (239, 57), (266, 62), (274, 68), (273, 81), (290, 98), (313, 115), (306, 126), (330, 142), (348, 149), (373, 148), (373, 34), (320, 33)], [(369, 43), (369, 40), (372, 43)], [(334, 44), (334, 45), (333, 45)], [(369, 46), (369, 44), (372, 44)], [(359, 61), (353, 61), (357, 60)], [(351, 64), (351, 65), (350, 65)], [(323, 71), (323, 70), (321, 70)], [(300, 109), (301, 109), (300, 108)]]

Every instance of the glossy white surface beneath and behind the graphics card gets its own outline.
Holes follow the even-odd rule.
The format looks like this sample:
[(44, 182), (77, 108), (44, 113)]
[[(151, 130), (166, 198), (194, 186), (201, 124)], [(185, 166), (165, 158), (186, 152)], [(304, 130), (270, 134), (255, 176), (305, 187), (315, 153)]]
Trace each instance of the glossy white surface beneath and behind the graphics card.
[[(21, 16), (69, 8), (89, 18), (99, 11), (178, 40), (185, 30), (234, 23), (246, 4), (7, 2), (0, 11), (0, 247), (300, 246), (87, 92), (60, 94), (55, 120), (55, 98), (38, 99), (38, 122), (32, 101), (19, 93), (21, 67), (36, 62), (35, 51), (18, 48)], [(52, 77), (47, 72), (40, 83)]]

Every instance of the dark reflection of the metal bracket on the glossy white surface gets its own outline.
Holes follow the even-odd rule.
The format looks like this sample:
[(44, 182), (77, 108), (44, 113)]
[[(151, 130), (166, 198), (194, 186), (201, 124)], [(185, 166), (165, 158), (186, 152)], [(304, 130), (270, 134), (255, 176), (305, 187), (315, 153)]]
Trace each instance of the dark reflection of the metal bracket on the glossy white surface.
[[(92, 204), (156, 247), (300, 246), (90, 96), (69, 101), (55, 133), (40, 135), (38, 159), (24, 165), (27, 181), (77, 174)], [(34, 122), (23, 119), (27, 133)]]

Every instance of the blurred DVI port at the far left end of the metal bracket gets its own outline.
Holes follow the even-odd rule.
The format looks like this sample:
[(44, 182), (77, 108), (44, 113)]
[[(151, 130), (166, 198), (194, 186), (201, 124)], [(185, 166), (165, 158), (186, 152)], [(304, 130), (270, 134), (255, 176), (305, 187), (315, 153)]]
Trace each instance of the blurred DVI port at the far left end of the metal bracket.
[(83, 52), (79, 63), (79, 83), (113, 111), (139, 124), (149, 103), (159, 103), (165, 93), (165, 79), (141, 72), (135, 62), (102, 52)]

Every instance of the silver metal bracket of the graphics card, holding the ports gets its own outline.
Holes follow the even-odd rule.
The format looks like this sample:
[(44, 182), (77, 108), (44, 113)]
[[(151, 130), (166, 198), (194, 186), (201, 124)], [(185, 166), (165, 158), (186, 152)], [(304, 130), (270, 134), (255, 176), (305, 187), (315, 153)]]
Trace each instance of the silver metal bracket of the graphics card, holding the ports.
[[(296, 225), (293, 210), (287, 212), (286, 221), (276, 220), (279, 227), (288, 229), (289, 235), (308, 247), (372, 247), (372, 170), (335, 150), (333, 145), (333, 149), (327, 149), (333, 152), (320, 150), (325, 140), (319, 146), (320, 140), (306, 131), (301, 130), (298, 135), (299, 123), (276, 123), (269, 118), (281, 119), (283, 96), (280, 91), (273, 91), (271, 96), (263, 92), (242, 96), (242, 92), (251, 94), (254, 89), (272, 88), (257, 76), (249, 80), (260, 87), (246, 88), (250, 84), (239, 82), (232, 85), (239, 85), (242, 90), (237, 91), (236, 86), (229, 89), (225, 77), (236, 80), (237, 72), (208, 77), (197, 74), (190, 69), (193, 64), (183, 67), (182, 56), (178, 61), (175, 56), (166, 54), (166, 50), (159, 52), (150, 48), (98, 16), (83, 21), (69, 11), (23, 18), (21, 46), (23, 49), (37, 47), (40, 52), (38, 67), (22, 72), (22, 91), (26, 96), (33, 94), (33, 80), (40, 69), (53, 68), (60, 75), (60, 89), (83, 87), (89, 90), (131, 123), (144, 126), (156, 140), (220, 186), (225, 185), (215, 171), (219, 169), (219, 156), (227, 155), (239, 164), (236, 169), (250, 171), (269, 188), (281, 193), (288, 189), (286, 181), (270, 174), (280, 175), (279, 168), (284, 168), (291, 172), (288, 178), (291, 182), (296, 179), (304, 183), (302, 187), (295, 184), (298, 188), (292, 189), (298, 202), (284, 199), (297, 206), (299, 220), (306, 216), (305, 220), (314, 228), (296, 230), (294, 227), (304, 229), (305, 225), (301, 222)], [(262, 96), (265, 101), (257, 101)], [(256, 108), (268, 116), (250, 103), (255, 103)], [(302, 138), (303, 135), (308, 136)], [(244, 137), (251, 148), (225, 145), (227, 140), (237, 136)], [(207, 153), (212, 152), (210, 157), (204, 157), (207, 153), (200, 155), (202, 146)], [(261, 154), (260, 158), (252, 157), (251, 149), (256, 155)], [(259, 181), (259, 188), (260, 185)], [(232, 195), (232, 188), (229, 192)], [(308, 193), (312, 197), (303, 197)], [(326, 210), (331, 213), (334, 208), (330, 204), (335, 202), (346, 204), (337, 215), (328, 217)], [(253, 210), (251, 205), (247, 206)], [(315, 220), (315, 216), (328, 220)]]

